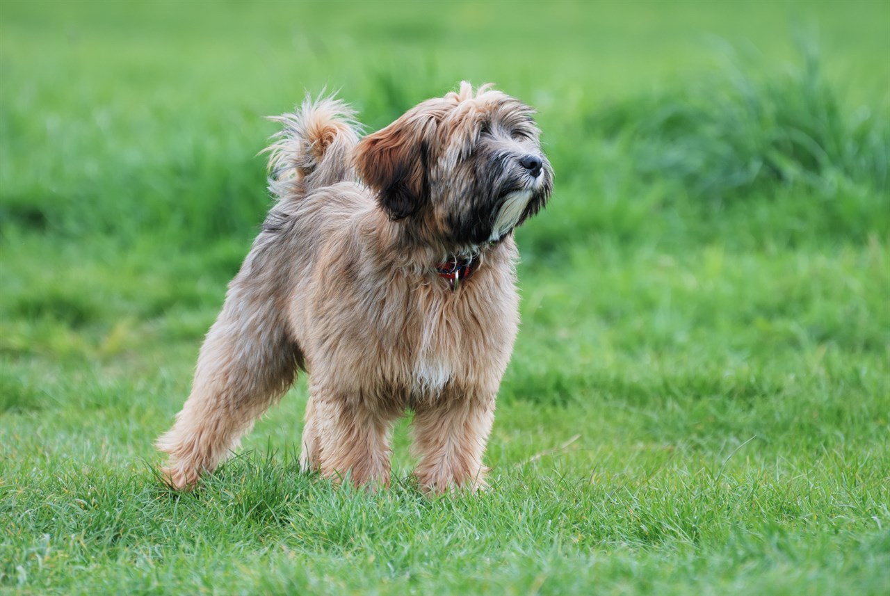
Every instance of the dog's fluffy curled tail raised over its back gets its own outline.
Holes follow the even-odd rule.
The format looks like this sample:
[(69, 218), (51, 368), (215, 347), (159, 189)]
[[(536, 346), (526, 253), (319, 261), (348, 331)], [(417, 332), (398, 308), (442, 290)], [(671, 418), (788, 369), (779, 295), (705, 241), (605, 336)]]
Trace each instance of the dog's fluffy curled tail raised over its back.
[(359, 142), (355, 112), (333, 95), (306, 95), (293, 114), (269, 119), (282, 125), (265, 149), (269, 190), (278, 200), (302, 198), (314, 189), (352, 180), (352, 148)]

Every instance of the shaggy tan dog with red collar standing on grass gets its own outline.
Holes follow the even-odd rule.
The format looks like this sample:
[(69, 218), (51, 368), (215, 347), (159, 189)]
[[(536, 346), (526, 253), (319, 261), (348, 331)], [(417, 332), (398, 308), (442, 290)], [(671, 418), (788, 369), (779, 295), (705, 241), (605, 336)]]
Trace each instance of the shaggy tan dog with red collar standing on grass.
[(167, 484), (194, 487), (305, 371), (305, 469), (388, 486), (410, 410), (420, 487), (485, 486), (519, 324), (513, 231), (553, 189), (533, 113), (463, 82), (364, 138), (334, 97), (271, 118), (277, 200), (157, 441)]

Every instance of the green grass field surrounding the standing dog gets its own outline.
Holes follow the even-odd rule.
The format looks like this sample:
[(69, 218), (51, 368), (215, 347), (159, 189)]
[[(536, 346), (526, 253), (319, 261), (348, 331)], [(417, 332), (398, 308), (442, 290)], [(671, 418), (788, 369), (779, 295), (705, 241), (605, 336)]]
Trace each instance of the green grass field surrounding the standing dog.
[[(467, 78), (556, 188), (485, 495), (151, 447), (270, 198), (263, 116)], [(886, 594), (890, 3), (0, 3), (0, 592)]]

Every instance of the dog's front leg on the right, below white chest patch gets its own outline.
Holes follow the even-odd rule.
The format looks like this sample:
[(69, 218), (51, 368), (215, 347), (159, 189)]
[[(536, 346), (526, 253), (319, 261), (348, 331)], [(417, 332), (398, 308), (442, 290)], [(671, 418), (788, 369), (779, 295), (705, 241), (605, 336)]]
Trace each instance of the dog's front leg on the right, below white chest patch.
[(464, 397), (417, 407), (413, 450), (421, 457), (417, 479), (425, 490), (443, 493), (485, 487), (482, 455), (495, 416), (495, 398)]

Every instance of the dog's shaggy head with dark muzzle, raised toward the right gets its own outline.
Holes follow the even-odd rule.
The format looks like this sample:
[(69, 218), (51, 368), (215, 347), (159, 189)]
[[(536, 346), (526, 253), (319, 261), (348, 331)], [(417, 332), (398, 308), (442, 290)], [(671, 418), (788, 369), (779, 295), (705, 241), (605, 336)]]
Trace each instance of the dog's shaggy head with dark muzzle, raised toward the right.
[(533, 110), (461, 83), (362, 139), (356, 170), (392, 220), (455, 252), (510, 234), (546, 204), (553, 169)]

